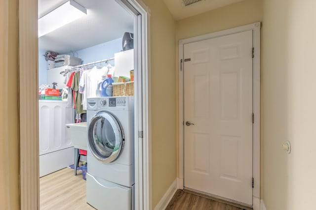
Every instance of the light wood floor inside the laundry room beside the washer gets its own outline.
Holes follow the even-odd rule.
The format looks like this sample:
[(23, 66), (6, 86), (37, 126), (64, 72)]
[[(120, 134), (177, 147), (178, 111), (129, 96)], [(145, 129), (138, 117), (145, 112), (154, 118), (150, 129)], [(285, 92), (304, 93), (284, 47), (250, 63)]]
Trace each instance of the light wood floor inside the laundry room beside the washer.
[(95, 210), (86, 203), (81, 171), (64, 168), (40, 178), (40, 210)]

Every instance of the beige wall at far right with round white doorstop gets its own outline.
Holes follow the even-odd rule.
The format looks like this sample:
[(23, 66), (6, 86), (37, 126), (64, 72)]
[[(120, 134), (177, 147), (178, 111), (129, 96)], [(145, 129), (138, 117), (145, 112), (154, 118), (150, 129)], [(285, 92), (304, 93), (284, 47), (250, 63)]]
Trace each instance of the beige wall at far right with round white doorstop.
[[(311, 210), (316, 198), (316, 1), (265, 0), (263, 200), (267, 210)], [(292, 152), (281, 149), (284, 141)]]

